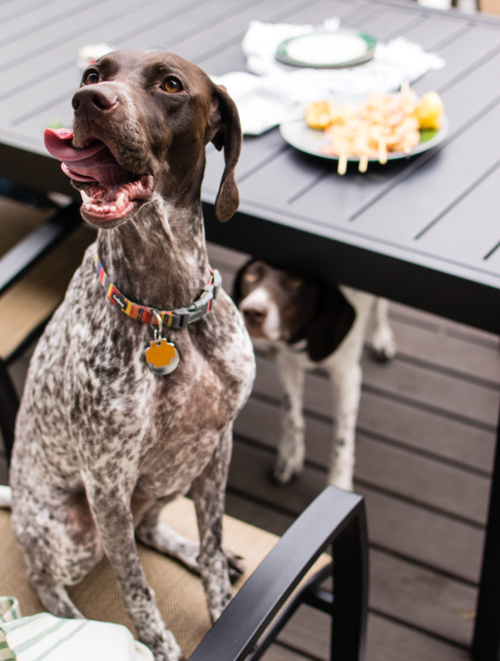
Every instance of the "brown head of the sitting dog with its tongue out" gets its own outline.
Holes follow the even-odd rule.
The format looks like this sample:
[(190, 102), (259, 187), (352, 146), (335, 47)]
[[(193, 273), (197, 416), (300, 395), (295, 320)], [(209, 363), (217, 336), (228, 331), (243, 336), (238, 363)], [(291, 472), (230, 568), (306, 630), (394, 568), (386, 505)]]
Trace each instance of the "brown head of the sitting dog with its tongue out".
[(164, 51), (114, 51), (84, 71), (73, 108), (73, 131), (46, 129), (45, 144), (81, 190), (90, 224), (116, 227), (155, 190), (199, 203), (210, 141), (226, 164), (216, 216), (224, 222), (236, 211), (238, 112), (195, 64)]

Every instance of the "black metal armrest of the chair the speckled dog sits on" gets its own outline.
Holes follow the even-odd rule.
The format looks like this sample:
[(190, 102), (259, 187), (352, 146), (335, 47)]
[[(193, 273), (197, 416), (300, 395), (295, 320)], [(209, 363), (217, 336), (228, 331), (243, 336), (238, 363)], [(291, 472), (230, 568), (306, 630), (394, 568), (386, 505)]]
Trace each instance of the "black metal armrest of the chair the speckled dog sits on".
[[(339, 654), (335, 658), (361, 658), (368, 597), (364, 500), (329, 486), (264, 558), (189, 661), (239, 661), (249, 655), (276, 612), (329, 545), (335, 558), (332, 610), (339, 625), (335, 629), (339, 635), (334, 635), (338, 640), (333, 643)], [(343, 629), (347, 632), (344, 635)], [(346, 640), (356, 636), (354, 643)]]

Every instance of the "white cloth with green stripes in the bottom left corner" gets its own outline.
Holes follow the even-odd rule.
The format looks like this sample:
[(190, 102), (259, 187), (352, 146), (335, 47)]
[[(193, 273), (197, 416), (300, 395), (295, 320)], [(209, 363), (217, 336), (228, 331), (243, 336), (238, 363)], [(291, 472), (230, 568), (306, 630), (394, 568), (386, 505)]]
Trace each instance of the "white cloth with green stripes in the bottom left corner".
[(122, 625), (64, 620), (49, 613), (21, 617), (14, 597), (0, 597), (0, 661), (154, 661)]

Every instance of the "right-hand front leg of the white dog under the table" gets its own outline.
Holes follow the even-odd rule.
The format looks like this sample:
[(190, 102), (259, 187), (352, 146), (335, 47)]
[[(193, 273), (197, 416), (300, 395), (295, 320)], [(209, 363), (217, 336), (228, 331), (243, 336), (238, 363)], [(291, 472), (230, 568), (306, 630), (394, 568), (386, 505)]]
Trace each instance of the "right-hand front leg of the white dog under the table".
[(356, 419), (361, 396), (361, 366), (358, 362), (346, 362), (331, 369), (330, 374), (334, 430), (328, 482), (341, 489), (352, 490)]

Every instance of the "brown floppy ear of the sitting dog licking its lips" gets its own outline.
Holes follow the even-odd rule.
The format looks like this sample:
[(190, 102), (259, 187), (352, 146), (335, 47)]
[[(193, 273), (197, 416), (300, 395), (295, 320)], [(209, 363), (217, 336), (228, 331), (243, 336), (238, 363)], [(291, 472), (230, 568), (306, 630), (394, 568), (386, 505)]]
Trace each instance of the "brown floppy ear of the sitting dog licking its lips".
[(220, 222), (226, 222), (236, 212), (239, 193), (234, 181), (234, 168), (241, 151), (241, 125), (239, 114), (231, 96), (222, 85), (212, 86), (212, 100), (209, 116), (210, 140), (219, 151), (224, 148), (224, 173), (219, 193), (215, 201), (215, 215)]

